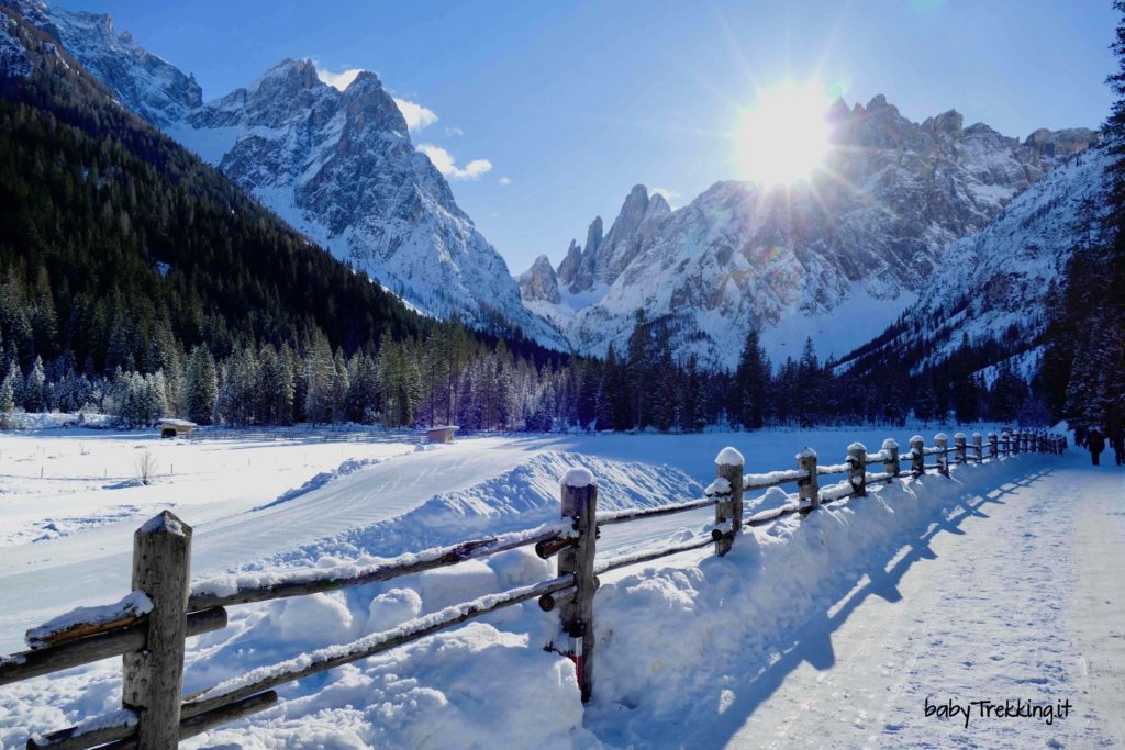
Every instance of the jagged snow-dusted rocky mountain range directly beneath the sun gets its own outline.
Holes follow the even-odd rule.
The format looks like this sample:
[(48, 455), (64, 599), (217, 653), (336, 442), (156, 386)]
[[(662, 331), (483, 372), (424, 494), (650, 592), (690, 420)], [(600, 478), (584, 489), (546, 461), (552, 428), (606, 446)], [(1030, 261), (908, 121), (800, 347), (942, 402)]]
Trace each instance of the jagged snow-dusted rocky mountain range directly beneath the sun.
[(557, 299), (537, 261), (524, 302), (584, 352), (620, 351), (644, 308), (674, 324), (681, 352), (719, 365), (735, 362), (750, 326), (775, 359), (808, 335), (839, 355), (918, 299), (946, 247), (1096, 141), (1081, 128), (1018, 141), (963, 127), (956, 111), (916, 124), (882, 96), (838, 101), (829, 120), (834, 148), (809, 183), (719, 182), (676, 211), (637, 186), (604, 238), (597, 218), (585, 247), (572, 243)]

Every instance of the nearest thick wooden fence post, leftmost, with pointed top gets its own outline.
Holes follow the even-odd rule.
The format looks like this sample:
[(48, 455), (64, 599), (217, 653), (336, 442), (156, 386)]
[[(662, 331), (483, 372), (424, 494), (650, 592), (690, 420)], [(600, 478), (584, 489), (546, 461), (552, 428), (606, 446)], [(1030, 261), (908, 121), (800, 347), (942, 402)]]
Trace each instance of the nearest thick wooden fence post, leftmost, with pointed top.
[(142, 748), (180, 742), (191, 526), (164, 510), (133, 535), (133, 590), (152, 602), (142, 651), (126, 653), (122, 704), (137, 713)]

